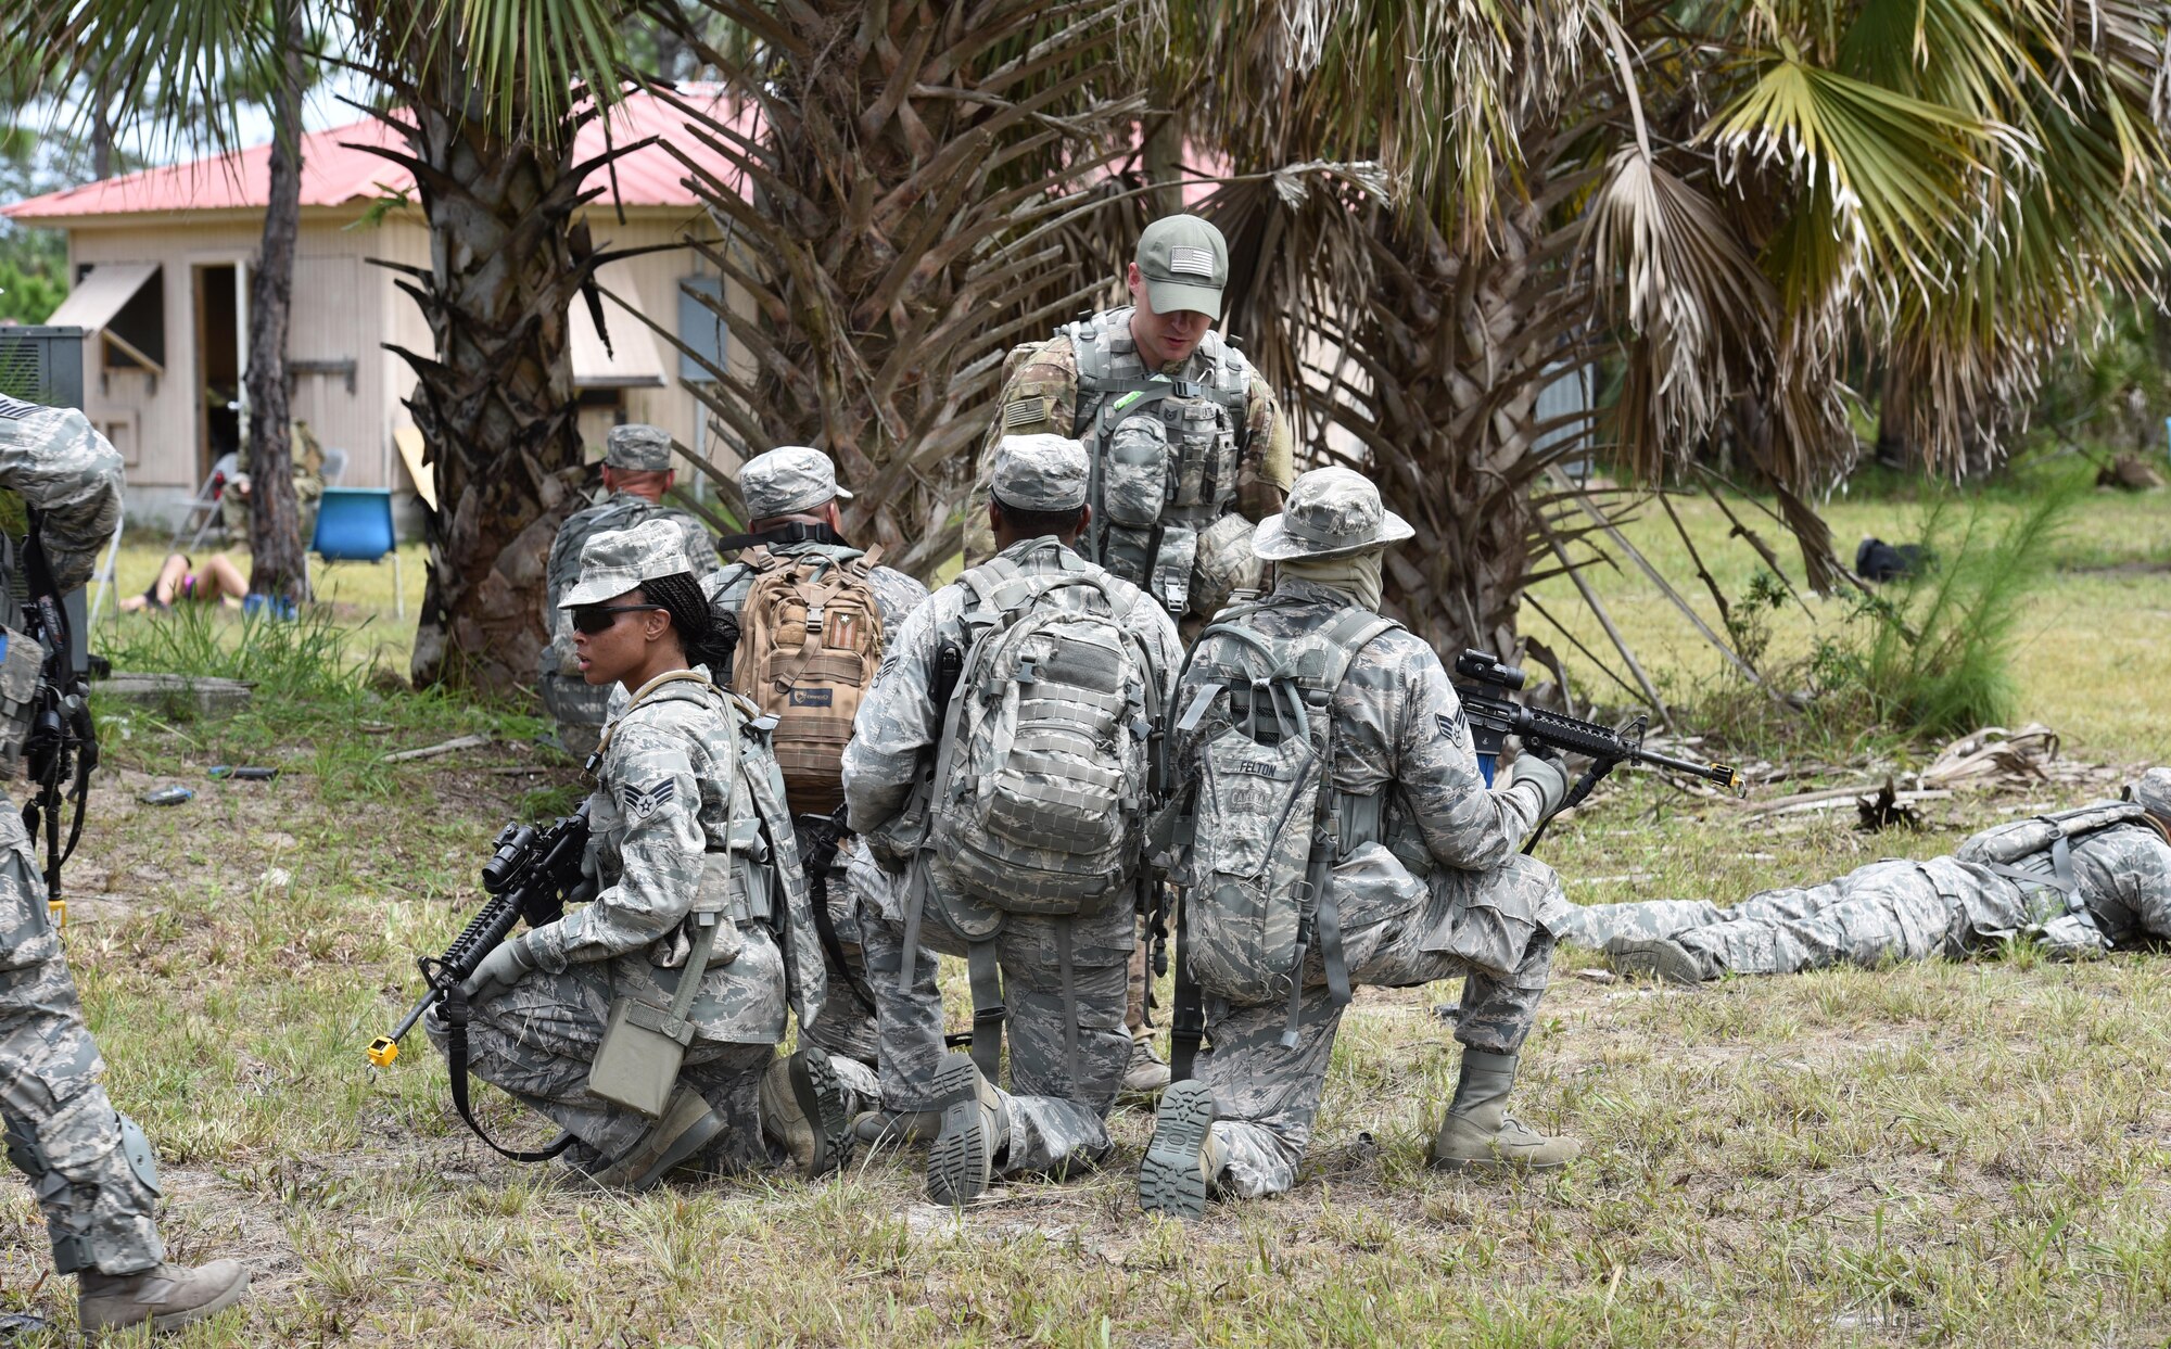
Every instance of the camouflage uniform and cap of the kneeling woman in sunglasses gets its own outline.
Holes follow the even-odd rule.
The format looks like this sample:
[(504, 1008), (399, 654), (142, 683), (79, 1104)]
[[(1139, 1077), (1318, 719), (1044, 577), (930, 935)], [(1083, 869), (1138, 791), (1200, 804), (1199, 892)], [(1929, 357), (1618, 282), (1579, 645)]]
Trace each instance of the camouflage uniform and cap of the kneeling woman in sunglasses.
[[(597, 536), (567, 603), (638, 586), (638, 577), (599, 577), (597, 557), (627, 536), (647, 536), (651, 553), (666, 553), (664, 529), (649, 521)], [(475, 1076), (575, 1134), (588, 1149), (584, 1160), (625, 1154), (653, 1121), (586, 1093), (610, 1004), (625, 995), (671, 1002), (695, 902), (721, 889), (732, 924), (688, 1013), (695, 1041), (680, 1084), (727, 1121), (708, 1165), (729, 1171), (769, 1160), (756, 1108), (762, 1074), (784, 1039), (786, 1008), (801, 1024), (821, 1013), (825, 976), (812, 959), (818, 939), (775, 761), (745, 705), (710, 683), (706, 668), (693, 674), (651, 681), (608, 724), (584, 861), (599, 894), (517, 937), (534, 969), (473, 1006), (469, 1052)], [(423, 1026), (443, 1048), (439, 1017)]]

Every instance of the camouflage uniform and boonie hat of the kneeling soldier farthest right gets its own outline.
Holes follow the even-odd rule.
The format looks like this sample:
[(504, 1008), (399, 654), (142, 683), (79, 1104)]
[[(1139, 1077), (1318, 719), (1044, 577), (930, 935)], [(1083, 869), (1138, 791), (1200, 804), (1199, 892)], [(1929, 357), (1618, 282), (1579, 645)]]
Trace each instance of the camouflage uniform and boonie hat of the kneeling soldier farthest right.
[[(1281, 659), (1296, 661), (1294, 651), (1322, 640), (1344, 614), (1372, 607), (1368, 596), (1359, 599), (1368, 586), (1355, 577), (1376, 577), (1381, 549), (1409, 536), (1409, 525), (1385, 512), (1379, 490), (1357, 473), (1307, 473), (1287, 510), (1261, 523), (1255, 538), (1261, 560), (1290, 564), (1285, 575), (1264, 603), (1224, 612), (1218, 622), (1268, 638)], [(1353, 579), (1329, 586), (1287, 575), (1329, 560), (1348, 562)], [(1194, 703), (1227, 688), (1220, 659), (1235, 648), (1233, 638), (1203, 638), (1177, 692), (1175, 753), (1183, 783), (1201, 781), (1205, 746), (1229, 724), (1229, 698), (1203, 703), (1205, 716), (1190, 729), (1183, 722)], [(1300, 668), (1311, 668), (1309, 657)], [(1554, 933), (1570, 909), (1552, 870), (1515, 846), (1559, 798), (1548, 802), (1515, 781), (1485, 787), (1446, 668), (1398, 625), (1357, 646), (1329, 696), (1329, 887), (1348, 985), (1411, 987), (1461, 976), (1455, 1037), (1465, 1045), (1465, 1074), (1472, 1056), (1498, 1056), (1507, 1065), (1500, 1071), (1511, 1076), (1552, 972)], [(1192, 857), (1188, 872), (1205, 865), (1211, 859)], [(1185, 902), (1205, 900), (1194, 887)], [(1318, 909), (1324, 915), (1329, 907)], [(1259, 1004), (1205, 998), (1211, 1050), (1198, 1061), (1198, 1084), (1181, 1082), (1164, 1097), (1142, 1169), (1140, 1195), (1148, 1208), (1196, 1217), (1207, 1193), (1248, 1199), (1296, 1184), (1344, 1011), (1329, 982), (1324, 948), (1313, 939), (1294, 1011), (1287, 998)], [(1294, 1048), (1285, 1048), (1287, 1032)], [(1194, 1113), (1203, 1145), (1177, 1158), (1194, 1186), (1203, 1182), (1190, 1195), (1192, 1206), (1151, 1193), (1166, 1130), (1183, 1110)]]

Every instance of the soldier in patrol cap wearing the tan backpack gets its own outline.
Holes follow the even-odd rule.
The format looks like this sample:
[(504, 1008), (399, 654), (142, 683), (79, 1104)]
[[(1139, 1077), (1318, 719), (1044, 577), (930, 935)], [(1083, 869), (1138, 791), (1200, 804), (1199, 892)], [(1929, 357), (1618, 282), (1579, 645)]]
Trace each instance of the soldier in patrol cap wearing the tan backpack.
[[(732, 688), (777, 716), (771, 742), (784, 759), (792, 833), (808, 868), (829, 974), (823, 1013), (799, 1035), (829, 1050), (851, 1093), (875, 1106), (881, 1097), (877, 1065), (899, 1084), (912, 1067), (923, 1082), (934, 1074), (942, 1054), (942, 993), (931, 959), (918, 965), (921, 978), (905, 991), (897, 989), (894, 961), (886, 969), (866, 963), (862, 896), (847, 881), (862, 848), (842, 831), (836, 811), (845, 800), (842, 753), (860, 696), (927, 588), (879, 566), (879, 551), (845, 542), (838, 501), (849, 501), (851, 492), (836, 486), (836, 464), (818, 449), (784, 445), (747, 460), (738, 492), (751, 525), (721, 547), (745, 551), (703, 588), (714, 612), (740, 629)], [(818, 633), (812, 646), (810, 633)], [(877, 1017), (884, 1000), (897, 1006)], [(894, 1043), (881, 1041), (884, 1026)], [(892, 1115), (873, 1110), (862, 1121), (862, 1136), (879, 1139), (894, 1123)]]

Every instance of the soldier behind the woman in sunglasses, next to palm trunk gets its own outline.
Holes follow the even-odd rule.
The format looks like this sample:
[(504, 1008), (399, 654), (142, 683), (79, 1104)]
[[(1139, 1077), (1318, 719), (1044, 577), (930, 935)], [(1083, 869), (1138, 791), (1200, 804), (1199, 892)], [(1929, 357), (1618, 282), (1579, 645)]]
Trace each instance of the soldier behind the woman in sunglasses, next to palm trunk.
[(549, 544), (543, 573), (543, 627), (551, 640), (543, 648), (536, 690), (543, 711), (558, 722), (558, 740), (575, 759), (586, 759), (595, 735), (604, 729), (610, 688), (597, 688), (580, 677), (573, 661), (573, 629), (560, 601), (580, 579), (580, 551), (597, 534), (632, 529), (643, 521), (671, 521), (684, 534), (684, 570), (706, 579), (716, 575), (716, 551), (708, 527), (675, 505), (660, 505), (677, 481), (671, 468), (671, 436), (660, 427), (627, 423), (610, 427), (604, 447), (604, 499), (567, 516)]

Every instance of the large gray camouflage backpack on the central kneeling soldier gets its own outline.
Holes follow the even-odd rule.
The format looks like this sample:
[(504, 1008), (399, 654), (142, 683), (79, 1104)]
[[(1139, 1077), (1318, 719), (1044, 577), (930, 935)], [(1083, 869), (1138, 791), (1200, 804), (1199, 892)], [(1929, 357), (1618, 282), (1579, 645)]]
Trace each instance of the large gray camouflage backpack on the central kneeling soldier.
[[(1159, 688), (1105, 570), (968, 570), (968, 651), (929, 802), (931, 865), (996, 913), (1094, 913), (1138, 861)], [(968, 924), (973, 926), (973, 924)]]

